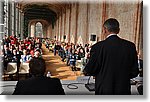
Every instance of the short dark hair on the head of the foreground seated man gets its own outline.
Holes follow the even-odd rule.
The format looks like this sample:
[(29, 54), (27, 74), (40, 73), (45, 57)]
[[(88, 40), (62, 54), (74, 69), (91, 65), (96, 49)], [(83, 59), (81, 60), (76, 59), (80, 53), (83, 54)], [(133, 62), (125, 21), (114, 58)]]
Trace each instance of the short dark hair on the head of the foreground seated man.
[(42, 58), (33, 58), (29, 62), (30, 74), (34, 76), (42, 76), (46, 70), (45, 60)]

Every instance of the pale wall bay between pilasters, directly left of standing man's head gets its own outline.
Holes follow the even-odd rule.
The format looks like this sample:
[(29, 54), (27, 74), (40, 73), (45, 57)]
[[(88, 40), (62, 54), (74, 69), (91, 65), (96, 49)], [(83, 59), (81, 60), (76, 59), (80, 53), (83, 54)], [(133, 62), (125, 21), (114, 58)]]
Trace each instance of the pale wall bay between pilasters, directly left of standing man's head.
[(88, 40), (90, 35), (97, 36), (96, 40), (101, 39), (102, 34), (102, 3), (88, 4)]

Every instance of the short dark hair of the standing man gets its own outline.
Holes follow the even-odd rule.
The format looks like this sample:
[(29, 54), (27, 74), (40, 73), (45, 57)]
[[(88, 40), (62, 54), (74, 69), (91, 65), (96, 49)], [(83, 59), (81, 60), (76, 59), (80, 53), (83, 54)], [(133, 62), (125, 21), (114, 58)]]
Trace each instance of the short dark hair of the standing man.
[(113, 32), (113, 33), (119, 33), (119, 22), (114, 19), (114, 18), (109, 18), (107, 19), (103, 26), (109, 31), (109, 32)]

